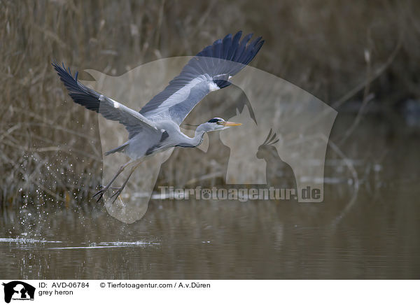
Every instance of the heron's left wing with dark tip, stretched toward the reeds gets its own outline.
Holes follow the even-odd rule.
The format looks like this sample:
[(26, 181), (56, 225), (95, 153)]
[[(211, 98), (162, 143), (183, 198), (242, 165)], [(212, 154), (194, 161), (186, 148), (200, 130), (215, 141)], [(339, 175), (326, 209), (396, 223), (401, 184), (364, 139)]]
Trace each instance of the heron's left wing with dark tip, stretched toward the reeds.
[(77, 104), (85, 106), (87, 109), (96, 111), (104, 115), (108, 120), (118, 121), (125, 126), (129, 134), (129, 139), (138, 134), (144, 129), (157, 131), (151, 120), (148, 120), (143, 115), (134, 111), (123, 104), (114, 101), (109, 97), (86, 87), (77, 80), (78, 73), (75, 77), (71, 75), (70, 68), (67, 71), (64, 64), (59, 66), (57, 63), (52, 63), (55, 71), (57, 71), (59, 78), (62, 80), (69, 95)]

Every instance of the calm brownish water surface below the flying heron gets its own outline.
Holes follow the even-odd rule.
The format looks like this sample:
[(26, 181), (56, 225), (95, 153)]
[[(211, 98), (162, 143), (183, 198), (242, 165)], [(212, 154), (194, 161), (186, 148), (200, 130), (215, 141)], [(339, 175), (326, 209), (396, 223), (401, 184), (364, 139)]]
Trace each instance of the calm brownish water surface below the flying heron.
[[(342, 118), (345, 120), (345, 118)], [(397, 122), (400, 123), (400, 122)], [(336, 127), (332, 139), (338, 142)], [(153, 199), (132, 225), (101, 204), (3, 207), (2, 278), (420, 278), (419, 132), (370, 118), (331, 149), (325, 200)]]

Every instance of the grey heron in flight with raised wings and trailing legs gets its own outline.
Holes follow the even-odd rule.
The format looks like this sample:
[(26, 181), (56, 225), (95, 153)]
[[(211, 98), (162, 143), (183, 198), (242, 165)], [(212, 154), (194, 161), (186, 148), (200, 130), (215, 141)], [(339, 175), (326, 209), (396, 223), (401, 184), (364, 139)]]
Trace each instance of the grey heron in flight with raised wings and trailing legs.
[(183, 67), (179, 76), (149, 101), (139, 112), (114, 101), (80, 83), (64, 64), (52, 63), (70, 97), (77, 104), (96, 111), (108, 120), (118, 121), (128, 132), (128, 141), (123, 145), (105, 152), (123, 152), (131, 161), (123, 164), (111, 181), (93, 197), (99, 201), (106, 190), (127, 166), (132, 166), (125, 183), (111, 196), (116, 198), (123, 191), (133, 171), (144, 158), (173, 147), (194, 148), (202, 143), (206, 132), (239, 126), (240, 123), (228, 122), (223, 118), (212, 118), (195, 129), (195, 136), (183, 134), (179, 126), (188, 113), (193, 110), (207, 94), (230, 85), (229, 79), (235, 76), (257, 55), (264, 43), (261, 37), (251, 40), (252, 34), (241, 39), (242, 32), (235, 36), (228, 34), (204, 48)]

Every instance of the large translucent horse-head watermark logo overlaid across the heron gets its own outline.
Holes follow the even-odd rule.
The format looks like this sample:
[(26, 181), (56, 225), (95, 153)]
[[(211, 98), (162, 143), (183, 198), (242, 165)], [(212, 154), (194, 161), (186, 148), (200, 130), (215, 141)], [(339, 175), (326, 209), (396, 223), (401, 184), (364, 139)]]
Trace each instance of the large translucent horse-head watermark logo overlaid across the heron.
[[(159, 59), (130, 69), (117, 77), (86, 70), (94, 81), (83, 83), (130, 108), (140, 110), (192, 58)], [(218, 132), (218, 141), (229, 150), (228, 159), (225, 162), (218, 160), (215, 166), (220, 172), (217, 173), (220, 180), (226, 186), (218, 187), (218, 190), (223, 189), (221, 194), (224, 196), (224, 190), (236, 189), (237, 200), (243, 200), (254, 197), (253, 191), (251, 195), (249, 193), (251, 189), (258, 190), (259, 196), (260, 189), (270, 190), (272, 187), (274, 190), (285, 190), (285, 196), (286, 190), (290, 190), (290, 198), (293, 197), (297, 202), (322, 202), (325, 152), (337, 112), (286, 80), (251, 66), (246, 66), (229, 82), (232, 85), (228, 88), (209, 95), (209, 99), (219, 101), (216, 102), (218, 112), (212, 113), (213, 116), (242, 124), (240, 127)], [(214, 108), (209, 106), (206, 99), (207, 97), (188, 115), (190, 122), (209, 120), (209, 113)], [(183, 127), (181, 125), (182, 132), (193, 136), (194, 130)], [(101, 115), (99, 133), (103, 151), (116, 148), (127, 139), (127, 132), (122, 125), (107, 121)], [(202, 166), (209, 164), (211, 148), (208, 136), (204, 136), (204, 142), (198, 148), (202, 150), (202, 158), (198, 162)], [(187, 149), (190, 148), (179, 148)], [(141, 219), (146, 213), (162, 164), (179, 162), (179, 158), (176, 161), (172, 161), (175, 157), (170, 159), (173, 151), (174, 148), (145, 159), (134, 171), (114, 204), (113, 200), (107, 200), (109, 196), (105, 197), (107, 211), (127, 223)], [(182, 153), (187, 152), (179, 151), (178, 154)], [(127, 161), (130, 159), (120, 153), (105, 156), (103, 184), (106, 185), (119, 166)], [(176, 166), (181, 169), (193, 166), (190, 159), (183, 162), (185, 164)], [(123, 184), (127, 174), (121, 174), (116, 185)], [(187, 174), (187, 171), (182, 174)], [(216, 175), (215, 172), (210, 175), (212, 174)], [(244, 188), (248, 189), (247, 194), (244, 191), (239, 192), (239, 189)], [(308, 190), (310, 195), (307, 195)], [(226, 192), (228, 195), (229, 191)], [(281, 197), (281, 191), (277, 197)]]

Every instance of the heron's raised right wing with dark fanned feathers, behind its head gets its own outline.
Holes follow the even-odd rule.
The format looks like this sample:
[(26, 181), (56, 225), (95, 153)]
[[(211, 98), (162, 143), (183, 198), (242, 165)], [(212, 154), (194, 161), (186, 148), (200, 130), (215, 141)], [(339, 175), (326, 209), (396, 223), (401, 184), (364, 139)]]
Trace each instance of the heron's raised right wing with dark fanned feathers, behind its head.
[(230, 85), (229, 78), (244, 69), (262, 47), (261, 37), (248, 43), (252, 34), (239, 41), (241, 34), (228, 34), (204, 48), (140, 113), (152, 121), (173, 120), (181, 125), (207, 94)]

